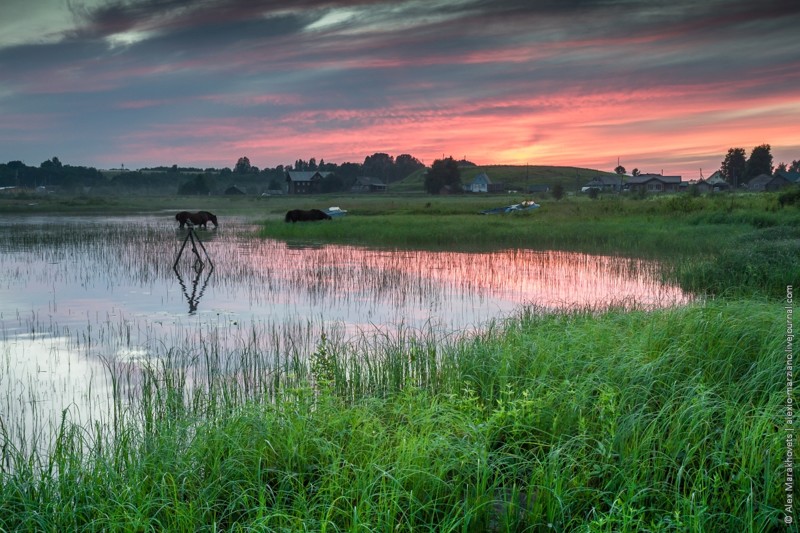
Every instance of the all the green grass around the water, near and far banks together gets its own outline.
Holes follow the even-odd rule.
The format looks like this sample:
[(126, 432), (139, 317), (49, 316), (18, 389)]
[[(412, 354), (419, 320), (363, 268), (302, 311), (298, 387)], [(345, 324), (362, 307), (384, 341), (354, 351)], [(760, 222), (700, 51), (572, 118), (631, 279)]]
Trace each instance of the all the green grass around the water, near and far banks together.
[[(213, 336), (191, 353), (165, 343), (141, 373), (115, 370), (135, 387), (108, 425), (74, 423), (67, 409), (52, 449), (6, 441), (0, 529), (781, 527), (786, 292), (800, 280), (800, 211), (780, 209), (774, 195), (687, 195), (537, 198), (534, 212), (477, 214), (520, 199), (208, 199), (197, 208), (254, 216), (261, 236), (289, 242), (655, 257), (665, 277), (703, 298), (653, 311), (528, 307), (463, 335), (322, 335), (269, 364), (255, 330), (235, 353), (220, 353)], [(63, 208), (115, 208), (72, 201)], [(290, 205), (349, 213), (286, 224)], [(187, 357), (203, 359), (203, 374), (187, 375)]]

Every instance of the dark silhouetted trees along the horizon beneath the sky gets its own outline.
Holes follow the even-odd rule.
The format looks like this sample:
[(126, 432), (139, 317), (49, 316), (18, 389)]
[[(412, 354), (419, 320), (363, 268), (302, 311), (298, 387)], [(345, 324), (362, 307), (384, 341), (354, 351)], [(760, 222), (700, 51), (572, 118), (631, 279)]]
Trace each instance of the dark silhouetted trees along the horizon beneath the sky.
[[(459, 169), (464, 166), (474, 166), (474, 163), (465, 159), (456, 161), (452, 157), (437, 159), (430, 165), (425, 176), (424, 189), (433, 194), (444, 188), (460, 190)], [(93, 167), (65, 165), (58, 157), (53, 157), (39, 166), (28, 166), (22, 161), (0, 163), (0, 188), (95, 194), (126, 192), (253, 195), (284, 190), (288, 171), (319, 171), (323, 178), (318, 192), (334, 193), (350, 191), (360, 178), (377, 178), (389, 185), (424, 167), (422, 161), (410, 154), (393, 157), (386, 153), (374, 153), (364, 158), (362, 163), (327, 163), (324, 159), (317, 162), (312, 157), (309, 160), (297, 159), (293, 164), (263, 169), (251, 164), (246, 156), (240, 157), (232, 168), (172, 165), (138, 170), (98, 170)], [(774, 166), (769, 144), (756, 146), (749, 157), (744, 148), (731, 148), (720, 162), (719, 169), (722, 177), (734, 187), (741, 186), (760, 174), (772, 174), (777, 170), (800, 172), (800, 160)], [(620, 175), (627, 174), (625, 167), (621, 165), (614, 171)], [(634, 168), (631, 174), (636, 176), (638, 172)]]

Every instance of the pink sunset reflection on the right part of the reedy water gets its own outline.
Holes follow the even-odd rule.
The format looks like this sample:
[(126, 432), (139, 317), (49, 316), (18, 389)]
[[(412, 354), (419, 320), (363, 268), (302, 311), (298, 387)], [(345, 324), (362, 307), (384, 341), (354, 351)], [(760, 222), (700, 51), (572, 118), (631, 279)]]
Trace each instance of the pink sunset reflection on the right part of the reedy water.
[[(355, 301), (445, 314), (458, 314), (459, 307), (467, 306), (481, 321), (493, 318), (492, 310), (504, 313), (522, 305), (651, 309), (691, 300), (661, 280), (658, 263), (639, 259), (533, 250), (294, 248), (274, 241), (269, 248), (250, 250), (253, 268), (271, 270), (273, 280), (294, 289), (294, 297), (303, 293), (323, 306)], [(481, 307), (487, 309), (481, 312)]]

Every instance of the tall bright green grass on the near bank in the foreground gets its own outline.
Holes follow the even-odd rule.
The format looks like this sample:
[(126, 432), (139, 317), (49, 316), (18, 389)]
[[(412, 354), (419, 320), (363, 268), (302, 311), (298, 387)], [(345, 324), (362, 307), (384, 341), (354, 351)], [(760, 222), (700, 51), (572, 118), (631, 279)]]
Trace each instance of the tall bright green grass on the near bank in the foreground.
[(230, 369), (189, 395), (164, 365), (111, 433), (65, 412), (49, 457), (4, 448), (0, 529), (772, 530), (784, 326), (729, 300), (321, 340), (280, 375), (250, 363), (271, 400)]

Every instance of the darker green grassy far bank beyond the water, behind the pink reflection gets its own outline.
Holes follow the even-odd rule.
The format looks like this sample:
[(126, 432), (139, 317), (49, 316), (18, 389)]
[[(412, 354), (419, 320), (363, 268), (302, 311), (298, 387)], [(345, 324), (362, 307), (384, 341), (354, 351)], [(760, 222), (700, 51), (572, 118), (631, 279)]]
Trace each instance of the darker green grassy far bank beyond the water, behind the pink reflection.
[[(263, 222), (261, 236), (421, 248), (532, 248), (657, 258), (684, 289), (780, 298), (800, 282), (800, 210), (775, 194), (606, 196), (542, 201), (540, 209), (479, 215), (518, 197), (363, 198), (322, 224)], [(320, 204), (308, 199), (307, 206)], [(321, 204), (320, 204), (321, 205)]]

